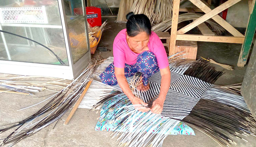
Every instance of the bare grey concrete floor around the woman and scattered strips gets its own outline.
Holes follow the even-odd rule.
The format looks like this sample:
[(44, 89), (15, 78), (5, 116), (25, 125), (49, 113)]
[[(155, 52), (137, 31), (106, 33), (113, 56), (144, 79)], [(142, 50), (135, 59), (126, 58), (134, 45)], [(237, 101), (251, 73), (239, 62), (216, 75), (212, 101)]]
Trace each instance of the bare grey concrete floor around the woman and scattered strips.
[[(107, 29), (103, 32), (101, 42), (99, 46), (107, 47), (111, 52), (107, 54), (101, 54), (101, 57), (107, 58), (113, 55), (112, 47), (113, 41), (117, 33), (125, 28), (125, 23), (113, 22), (115, 18), (109, 17)], [(241, 44), (227, 44), (227, 43), (209, 43), (209, 42), (198, 42), (198, 53), (197, 58), (200, 56), (204, 58), (214, 59), (216, 62), (229, 64), (234, 66), (234, 71), (224, 70), (226, 73), (221, 76), (215, 84), (229, 85), (237, 84), (243, 81), (245, 75), (245, 67), (237, 67), (239, 53), (241, 50)], [(92, 55), (96, 57), (97, 52)], [(218, 70), (223, 68), (218, 67)], [(0, 77), (11, 77), (15, 75), (0, 74)], [(30, 78), (22, 79), (24, 81), (53, 81), (50, 78)], [(53, 89), (55, 90), (55, 89)], [(56, 89), (57, 90), (57, 89)], [(33, 99), (35, 97), (45, 96), (54, 93), (52, 91), (44, 90), (42, 93), (37, 93), (37, 96), (23, 96), (11, 93), (0, 93), (0, 126), (5, 124), (14, 123), (37, 112), (47, 102), (41, 103), (30, 109), (17, 112), (16, 110), (31, 106), (35, 103), (39, 103), (43, 98)], [(39, 131), (35, 135), (24, 139), (14, 145), (14, 147), (116, 147), (117, 142), (115, 139), (111, 139), (110, 133), (105, 131), (95, 131), (95, 125), (99, 113), (88, 112), (89, 109), (77, 109), (73, 118), (68, 125), (63, 125), (64, 121), (59, 121), (53, 129), (54, 124), (46, 127)], [(69, 111), (70, 112), (70, 111)], [(66, 119), (66, 113), (62, 119)], [(1, 127), (0, 127), (1, 129)], [(195, 129), (194, 129), (195, 130)], [(8, 133), (8, 132), (7, 132)], [(7, 133), (0, 134), (0, 138), (6, 137)], [(169, 135), (164, 140), (163, 147), (218, 147), (219, 145), (214, 142), (211, 138), (206, 136), (204, 133), (195, 130), (196, 136), (186, 135)], [(237, 147), (256, 147), (256, 137), (248, 136), (245, 137), (248, 142), (243, 140), (234, 139), (237, 142)], [(6, 145), (8, 146), (8, 145)]]

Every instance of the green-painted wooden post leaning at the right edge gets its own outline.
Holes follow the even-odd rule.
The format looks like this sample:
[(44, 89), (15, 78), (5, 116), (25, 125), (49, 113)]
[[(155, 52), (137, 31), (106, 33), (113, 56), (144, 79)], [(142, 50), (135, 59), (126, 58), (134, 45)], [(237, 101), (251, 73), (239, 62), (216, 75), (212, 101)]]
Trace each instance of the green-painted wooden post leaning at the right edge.
[(249, 16), (246, 32), (245, 32), (245, 40), (242, 45), (242, 49), (239, 55), (237, 66), (243, 67), (247, 62), (247, 58), (251, 49), (251, 43), (254, 36), (254, 32), (256, 29), (256, 5), (254, 2), (252, 13)]

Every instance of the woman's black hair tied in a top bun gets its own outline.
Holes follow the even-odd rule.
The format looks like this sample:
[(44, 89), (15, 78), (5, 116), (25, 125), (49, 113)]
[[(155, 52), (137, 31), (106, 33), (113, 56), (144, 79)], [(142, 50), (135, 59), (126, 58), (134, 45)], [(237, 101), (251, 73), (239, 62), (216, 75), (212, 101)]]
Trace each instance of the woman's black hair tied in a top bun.
[(151, 22), (145, 14), (134, 14), (130, 12), (126, 15), (126, 31), (130, 37), (138, 35), (140, 32), (146, 32), (151, 35)]

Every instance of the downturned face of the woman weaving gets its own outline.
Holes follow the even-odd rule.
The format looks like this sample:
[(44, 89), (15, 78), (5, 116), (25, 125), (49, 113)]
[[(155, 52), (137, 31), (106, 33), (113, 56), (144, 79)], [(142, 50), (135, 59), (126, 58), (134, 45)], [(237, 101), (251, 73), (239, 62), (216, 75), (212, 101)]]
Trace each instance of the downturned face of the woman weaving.
[(148, 46), (149, 35), (146, 32), (140, 32), (134, 37), (130, 37), (126, 32), (127, 41), (129, 41), (130, 47), (135, 51), (142, 51), (145, 47)]

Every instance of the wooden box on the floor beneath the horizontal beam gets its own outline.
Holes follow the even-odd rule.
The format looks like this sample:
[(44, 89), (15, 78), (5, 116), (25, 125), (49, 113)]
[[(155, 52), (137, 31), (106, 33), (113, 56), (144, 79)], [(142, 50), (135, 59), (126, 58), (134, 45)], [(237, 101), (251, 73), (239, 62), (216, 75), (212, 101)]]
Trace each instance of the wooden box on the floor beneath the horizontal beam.
[(175, 53), (181, 52), (180, 54), (175, 55), (184, 55), (183, 57), (186, 59), (196, 59), (196, 54), (197, 54), (197, 41), (183, 41), (183, 40), (177, 40), (176, 41), (176, 46), (175, 46)]

